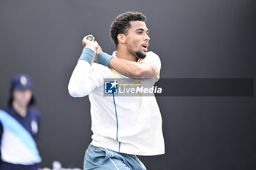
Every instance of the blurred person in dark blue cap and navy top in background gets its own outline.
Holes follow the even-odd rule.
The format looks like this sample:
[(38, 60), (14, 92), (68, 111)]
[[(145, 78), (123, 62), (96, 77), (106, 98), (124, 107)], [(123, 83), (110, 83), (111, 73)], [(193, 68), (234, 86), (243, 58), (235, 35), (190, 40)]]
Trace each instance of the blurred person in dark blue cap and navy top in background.
[(33, 84), (27, 74), (12, 78), (7, 107), (0, 109), (0, 170), (38, 170), (40, 113), (34, 105)]

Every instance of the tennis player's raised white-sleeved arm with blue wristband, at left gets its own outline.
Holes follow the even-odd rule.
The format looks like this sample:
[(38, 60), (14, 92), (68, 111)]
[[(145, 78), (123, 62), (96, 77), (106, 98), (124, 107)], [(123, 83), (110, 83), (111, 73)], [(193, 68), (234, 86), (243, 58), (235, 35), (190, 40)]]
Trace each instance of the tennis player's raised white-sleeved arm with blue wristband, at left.
[(97, 42), (87, 40), (86, 36), (83, 38), (82, 43), (86, 47), (83, 48), (68, 85), (69, 94), (72, 97), (87, 96), (94, 90), (94, 81), (89, 77), (89, 72), (94, 56), (97, 55), (96, 50), (99, 45)]

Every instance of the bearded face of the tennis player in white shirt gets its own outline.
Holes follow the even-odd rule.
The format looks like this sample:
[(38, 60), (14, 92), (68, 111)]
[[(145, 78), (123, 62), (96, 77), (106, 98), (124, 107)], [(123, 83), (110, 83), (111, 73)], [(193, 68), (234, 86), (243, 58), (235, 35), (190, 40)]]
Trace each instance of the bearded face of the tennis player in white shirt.
[(143, 21), (131, 21), (126, 36), (127, 49), (138, 58), (145, 58), (148, 51), (148, 28)]

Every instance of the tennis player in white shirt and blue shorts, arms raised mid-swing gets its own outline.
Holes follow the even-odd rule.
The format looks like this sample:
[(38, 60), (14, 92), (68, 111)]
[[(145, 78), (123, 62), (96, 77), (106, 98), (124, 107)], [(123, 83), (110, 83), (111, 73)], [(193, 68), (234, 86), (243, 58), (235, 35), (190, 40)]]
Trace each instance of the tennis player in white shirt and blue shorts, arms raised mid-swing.
[[(105, 78), (139, 78), (154, 84), (161, 61), (148, 52), (146, 16), (140, 12), (118, 15), (110, 28), (117, 50), (103, 53), (97, 42), (83, 38), (68, 90), (73, 97), (89, 95), (92, 142), (84, 169), (146, 169), (136, 155), (165, 153), (162, 117), (154, 96), (104, 96)], [(93, 62), (97, 61), (97, 62)]]

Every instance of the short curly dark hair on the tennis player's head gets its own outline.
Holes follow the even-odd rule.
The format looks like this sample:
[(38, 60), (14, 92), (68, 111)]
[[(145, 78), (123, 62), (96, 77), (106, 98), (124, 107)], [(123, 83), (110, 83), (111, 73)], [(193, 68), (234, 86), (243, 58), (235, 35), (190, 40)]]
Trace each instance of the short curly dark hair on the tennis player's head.
[(113, 42), (118, 45), (118, 34), (127, 35), (129, 28), (131, 28), (130, 21), (143, 21), (146, 22), (146, 16), (140, 12), (125, 12), (116, 17), (110, 27), (110, 36)]

